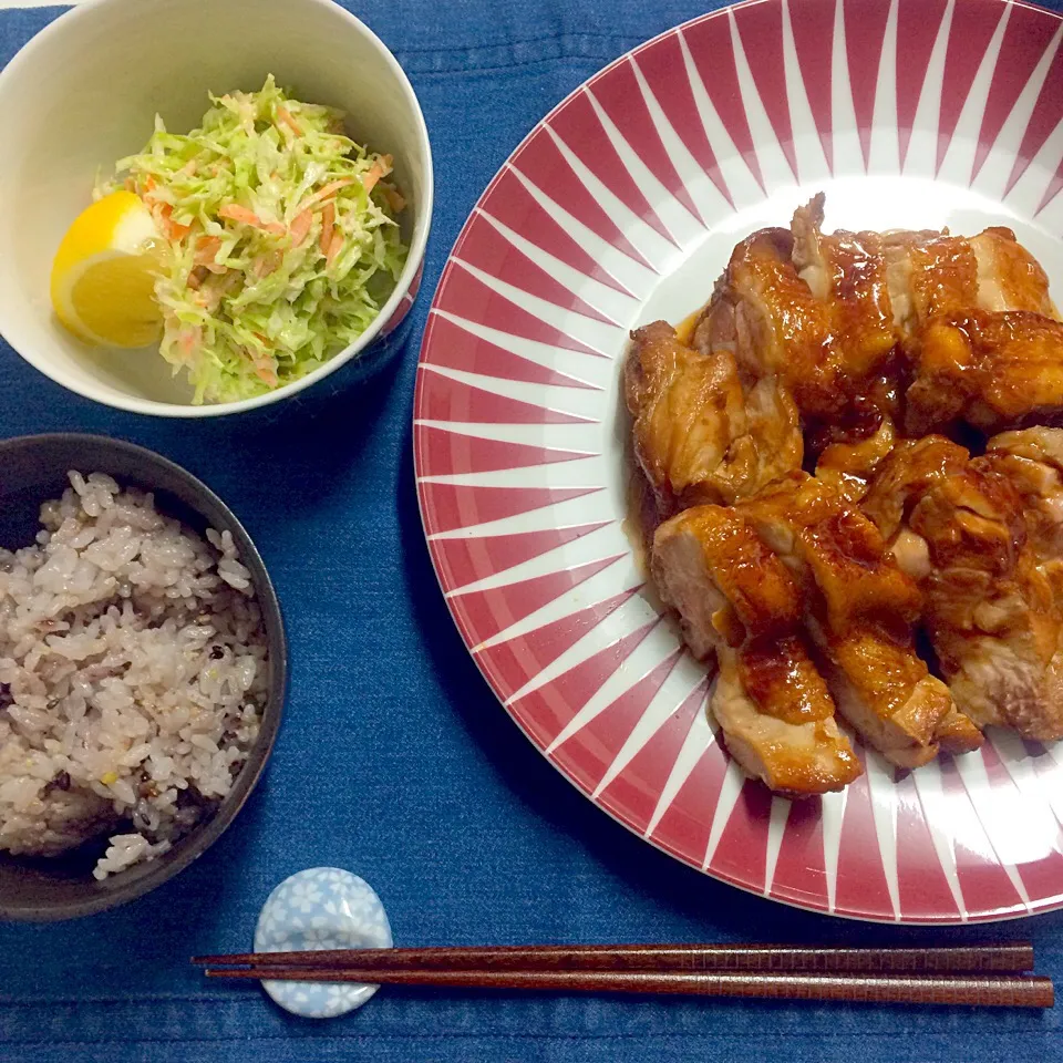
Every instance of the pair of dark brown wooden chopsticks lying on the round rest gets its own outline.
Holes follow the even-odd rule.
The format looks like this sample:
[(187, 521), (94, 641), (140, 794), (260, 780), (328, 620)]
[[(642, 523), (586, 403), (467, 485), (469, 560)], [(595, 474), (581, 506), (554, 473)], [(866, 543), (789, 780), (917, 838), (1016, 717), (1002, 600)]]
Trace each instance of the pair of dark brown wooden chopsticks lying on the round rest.
[(1051, 1008), (1029, 941), (949, 948), (575, 945), (198, 956), (207, 978)]

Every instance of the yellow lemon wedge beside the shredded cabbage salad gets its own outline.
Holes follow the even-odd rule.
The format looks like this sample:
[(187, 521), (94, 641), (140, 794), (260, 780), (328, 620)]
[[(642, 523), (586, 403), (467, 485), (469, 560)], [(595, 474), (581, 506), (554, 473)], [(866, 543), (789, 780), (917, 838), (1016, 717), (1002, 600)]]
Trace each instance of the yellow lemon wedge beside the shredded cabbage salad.
[(52, 264), (52, 307), (74, 336), (100, 347), (158, 340), (158, 231), (132, 192), (112, 192), (66, 230)]

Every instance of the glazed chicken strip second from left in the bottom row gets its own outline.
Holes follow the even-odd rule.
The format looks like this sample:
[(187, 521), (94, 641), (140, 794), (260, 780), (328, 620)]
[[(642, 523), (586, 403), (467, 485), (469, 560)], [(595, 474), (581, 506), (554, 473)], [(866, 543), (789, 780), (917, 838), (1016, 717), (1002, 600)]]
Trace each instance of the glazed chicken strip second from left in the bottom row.
[(953, 703), (916, 653), (920, 595), (875, 526), (829, 485), (792, 473), (737, 509), (802, 587), (838, 711), (889, 761), (917, 767), (953, 732)]

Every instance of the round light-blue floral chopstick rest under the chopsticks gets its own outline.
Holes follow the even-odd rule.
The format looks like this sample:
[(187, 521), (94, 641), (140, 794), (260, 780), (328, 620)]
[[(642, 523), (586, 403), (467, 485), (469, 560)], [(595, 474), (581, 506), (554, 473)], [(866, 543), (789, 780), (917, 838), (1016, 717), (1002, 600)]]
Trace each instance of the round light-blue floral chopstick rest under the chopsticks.
[[(286, 878), (266, 899), (255, 928), (256, 952), (392, 945), (388, 912), (373, 888), (339, 867), (311, 867)], [(379, 988), (364, 982), (262, 982), (276, 1003), (307, 1019), (347, 1014)]]

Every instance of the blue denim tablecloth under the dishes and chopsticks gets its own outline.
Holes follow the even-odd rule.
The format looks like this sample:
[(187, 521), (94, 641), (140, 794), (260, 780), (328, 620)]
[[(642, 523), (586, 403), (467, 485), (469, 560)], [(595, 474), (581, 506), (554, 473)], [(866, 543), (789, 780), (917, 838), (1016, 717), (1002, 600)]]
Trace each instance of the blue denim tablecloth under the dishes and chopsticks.
[[(270, 889), (300, 868), (328, 864), (376, 888), (400, 945), (941, 943), (1029, 935), (1041, 969), (1063, 985), (1063, 914), (920, 931), (768, 904), (628, 834), (509, 722), (457, 637), (422, 539), (410, 447), (421, 328), (465, 216), (530, 126), (608, 61), (705, 4), (349, 6), (409, 72), (435, 154), (422, 298), (391, 370), (332, 398), (311, 393), (283, 415), (178, 424), (75, 399), (0, 345), (0, 435), (79, 429), (122, 436), (176, 460), (220, 493), (274, 575), (292, 663), (287, 720), (267, 776), (206, 856), (116, 911), (73, 923), (0, 926), (0, 1057), (1063, 1059), (1059, 1008), (974, 1014), (383, 990), (363, 1011), (313, 1022), (279, 1011), (257, 988), (206, 984), (188, 966), (196, 952), (247, 948)], [(61, 10), (0, 10), (3, 61)]]

